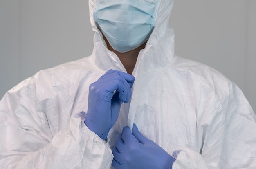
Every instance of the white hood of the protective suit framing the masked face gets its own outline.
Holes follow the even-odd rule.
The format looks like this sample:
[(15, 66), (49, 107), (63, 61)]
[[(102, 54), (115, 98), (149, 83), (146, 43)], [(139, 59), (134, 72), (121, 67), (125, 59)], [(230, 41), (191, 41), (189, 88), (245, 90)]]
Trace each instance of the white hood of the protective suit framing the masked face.
[[(96, 0), (89, 0), (90, 22), (94, 35), (94, 63), (103, 71), (115, 69), (126, 71), (115, 53), (108, 50), (106, 42), (94, 21), (94, 4)], [(135, 71), (154, 71), (170, 64), (174, 57), (174, 31), (169, 25), (169, 18), (174, 0), (160, 0), (157, 11), (156, 25), (151, 33), (146, 47), (138, 56)]]

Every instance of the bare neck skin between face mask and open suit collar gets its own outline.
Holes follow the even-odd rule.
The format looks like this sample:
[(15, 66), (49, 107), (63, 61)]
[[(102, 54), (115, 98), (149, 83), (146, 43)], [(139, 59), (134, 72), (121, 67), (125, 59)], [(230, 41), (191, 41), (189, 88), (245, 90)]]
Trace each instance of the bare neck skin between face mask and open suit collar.
[(124, 65), (124, 68), (126, 69), (127, 73), (132, 74), (135, 64), (136, 64), (136, 61), (137, 61), (137, 58), (138, 58), (138, 55), (139, 55), (139, 52), (140, 52), (140, 50), (145, 48), (146, 42), (136, 49), (133, 49), (133, 50), (125, 52), (125, 53), (120, 53), (111, 47), (111, 45), (108, 43), (105, 36), (103, 36), (103, 38), (107, 44), (108, 49), (117, 55), (117, 57), (119, 58), (121, 63)]

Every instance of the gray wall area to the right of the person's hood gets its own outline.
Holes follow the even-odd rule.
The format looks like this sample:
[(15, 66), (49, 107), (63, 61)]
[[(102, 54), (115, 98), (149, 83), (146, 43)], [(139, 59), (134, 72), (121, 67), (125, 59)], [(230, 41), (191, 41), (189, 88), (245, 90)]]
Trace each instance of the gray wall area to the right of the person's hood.
[(176, 0), (175, 53), (234, 81), (256, 111), (256, 1)]

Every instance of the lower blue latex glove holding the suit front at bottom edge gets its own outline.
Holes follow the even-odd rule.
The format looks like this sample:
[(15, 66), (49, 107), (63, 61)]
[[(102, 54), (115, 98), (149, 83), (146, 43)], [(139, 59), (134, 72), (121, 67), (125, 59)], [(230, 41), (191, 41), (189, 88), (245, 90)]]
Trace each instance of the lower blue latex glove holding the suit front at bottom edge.
[(124, 127), (112, 153), (115, 169), (171, 169), (175, 162), (164, 149), (144, 137), (135, 124), (132, 133)]

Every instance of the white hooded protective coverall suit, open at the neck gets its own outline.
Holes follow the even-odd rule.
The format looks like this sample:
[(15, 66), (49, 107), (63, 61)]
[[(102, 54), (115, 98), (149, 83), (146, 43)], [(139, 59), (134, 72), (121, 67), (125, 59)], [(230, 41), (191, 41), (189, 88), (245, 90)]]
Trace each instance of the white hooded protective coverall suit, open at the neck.
[(0, 102), (0, 166), (16, 169), (110, 169), (118, 134), (135, 123), (177, 160), (173, 169), (256, 169), (256, 116), (242, 91), (220, 72), (174, 55), (172, 0), (141, 50), (130, 103), (105, 142), (84, 124), (88, 88), (109, 69), (126, 72), (106, 48), (92, 14), (90, 57), (42, 70)]

